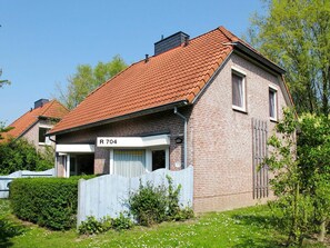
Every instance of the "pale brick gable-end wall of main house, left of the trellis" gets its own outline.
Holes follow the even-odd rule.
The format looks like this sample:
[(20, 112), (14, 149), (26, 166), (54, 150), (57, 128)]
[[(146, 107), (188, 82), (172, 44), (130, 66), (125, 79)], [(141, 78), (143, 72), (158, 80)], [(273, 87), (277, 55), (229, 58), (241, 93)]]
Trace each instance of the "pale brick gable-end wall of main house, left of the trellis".
[[(232, 109), (231, 68), (247, 73), (247, 112)], [(253, 205), (251, 119), (269, 120), (269, 86), (278, 89), (278, 106), (286, 106), (279, 79), (232, 54), (197, 101), (190, 118), (194, 165), (194, 210), (224, 210)]]

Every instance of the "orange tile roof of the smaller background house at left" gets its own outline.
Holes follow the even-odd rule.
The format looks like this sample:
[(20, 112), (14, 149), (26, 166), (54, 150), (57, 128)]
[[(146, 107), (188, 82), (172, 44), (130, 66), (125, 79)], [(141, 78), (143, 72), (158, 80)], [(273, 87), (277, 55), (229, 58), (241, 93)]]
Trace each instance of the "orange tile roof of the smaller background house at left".
[(19, 119), (13, 121), (11, 125), (9, 125), (9, 127), (13, 127), (13, 129), (6, 133), (2, 133), (2, 136), (4, 140), (9, 137), (18, 138), (23, 135), (30, 127), (32, 127), (39, 120), (39, 118), (61, 119), (68, 112), (69, 110), (57, 100), (49, 101), (39, 108), (31, 109)]

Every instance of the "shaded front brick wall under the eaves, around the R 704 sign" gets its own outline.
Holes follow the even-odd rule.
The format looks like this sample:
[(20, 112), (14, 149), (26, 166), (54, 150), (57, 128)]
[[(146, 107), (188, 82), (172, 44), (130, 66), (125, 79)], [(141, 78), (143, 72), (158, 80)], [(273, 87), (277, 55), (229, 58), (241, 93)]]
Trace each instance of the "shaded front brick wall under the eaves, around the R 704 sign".
[[(186, 112), (189, 111), (191, 111), (191, 107), (186, 109)], [(177, 169), (176, 162), (183, 166), (182, 143), (177, 145), (174, 141), (179, 135), (183, 135), (183, 122), (174, 115), (173, 110), (64, 133), (57, 136), (57, 140), (59, 143), (94, 145), (97, 137), (139, 137), (154, 133), (170, 135), (170, 168)], [(94, 173), (109, 173), (109, 157), (110, 150), (108, 148), (96, 147)]]

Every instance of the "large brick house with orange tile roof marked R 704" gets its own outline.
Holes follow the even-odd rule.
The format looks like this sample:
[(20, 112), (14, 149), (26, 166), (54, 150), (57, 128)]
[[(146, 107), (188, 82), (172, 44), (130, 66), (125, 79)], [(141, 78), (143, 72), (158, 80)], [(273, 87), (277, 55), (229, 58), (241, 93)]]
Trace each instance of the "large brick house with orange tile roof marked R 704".
[(284, 70), (223, 27), (154, 43), (66, 116), (57, 172), (139, 176), (193, 166), (196, 211), (256, 204), (269, 196), (267, 136), (292, 106)]

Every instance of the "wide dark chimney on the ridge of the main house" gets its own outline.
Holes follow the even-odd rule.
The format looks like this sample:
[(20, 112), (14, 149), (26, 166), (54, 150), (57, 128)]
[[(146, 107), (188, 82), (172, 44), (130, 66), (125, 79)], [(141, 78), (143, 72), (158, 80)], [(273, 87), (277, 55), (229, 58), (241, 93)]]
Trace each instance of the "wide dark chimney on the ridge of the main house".
[(172, 48), (179, 47), (182, 43), (184, 43), (184, 46), (189, 43), (189, 36), (181, 31), (164, 39), (162, 38), (160, 41), (154, 43), (154, 54), (160, 54)]

